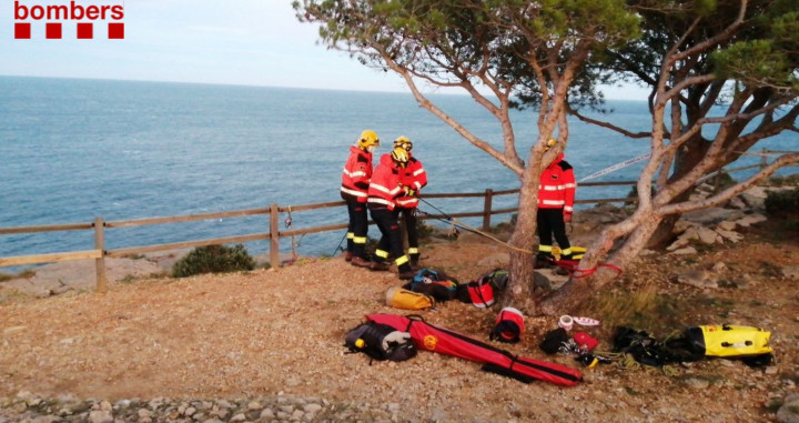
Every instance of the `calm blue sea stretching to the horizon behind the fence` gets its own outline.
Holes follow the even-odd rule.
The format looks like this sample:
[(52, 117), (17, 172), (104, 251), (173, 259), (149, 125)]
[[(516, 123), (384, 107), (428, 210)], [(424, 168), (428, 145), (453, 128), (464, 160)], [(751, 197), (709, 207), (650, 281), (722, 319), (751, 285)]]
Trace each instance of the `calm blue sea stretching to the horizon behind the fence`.
[[(429, 94), (465, 128), (502, 149), (500, 129), (471, 97)], [(630, 131), (646, 131), (644, 101), (608, 101), (605, 118)], [(526, 158), (537, 139), (534, 111), (516, 111), (517, 150)], [(631, 181), (649, 152), (647, 139), (573, 120), (566, 160), (578, 181), (619, 168), (590, 182)], [(469, 144), (421, 108), (409, 93), (311, 90), (172, 82), (0, 77), (0, 228), (215, 213), (340, 201), (341, 172), (361, 131), (381, 139), (378, 153), (405, 135), (414, 142), (429, 184), (424, 193), (477, 193), (516, 189), (507, 168)], [(781, 134), (755, 150), (796, 149), (796, 134)], [(791, 145), (792, 144), (792, 145)], [(735, 167), (754, 164), (746, 157)], [(790, 173), (790, 170), (783, 171)], [(796, 168), (793, 169), (796, 173)], [(742, 179), (747, 174), (732, 174)], [(588, 181), (585, 181), (588, 182)], [(624, 198), (629, 187), (584, 188), (577, 199)], [(494, 208), (516, 205), (497, 197)], [(481, 211), (482, 199), (428, 199), (433, 214)], [(509, 214), (493, 216), (494, 222)], [(461, 219), (479, 225), (478, 218)], [(346, 222), (346, 210), (299, 211), (281, 216), (281, 230)], [(446, 228), (446, 220), (431, 220)], [(105, 231), (107, 249), (269, 232), (269, 216)], [(293, 240), (281, 251), (332, 255), (344, 230)], [(378, 238), (372, 228), (370, 235)], [(264, 253), (267, 241), (246, 243)], [(0, 256), (92, 250), (92, 231), (0, 234)], [(3, 269), (0, 269), (0, 272)]]

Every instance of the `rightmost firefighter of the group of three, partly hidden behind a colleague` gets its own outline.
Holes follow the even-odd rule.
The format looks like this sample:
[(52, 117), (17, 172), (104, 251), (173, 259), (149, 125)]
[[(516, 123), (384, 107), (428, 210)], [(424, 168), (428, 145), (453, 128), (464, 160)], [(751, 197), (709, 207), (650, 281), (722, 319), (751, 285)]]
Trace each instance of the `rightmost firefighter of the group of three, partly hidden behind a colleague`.
[(400, 172), (400, 182), (407, 187), (405, 195), (397, 199), (396, 214), (405, 220), (405, 228), (408, 236), (408, 256), (411, 268), (418, 270), (418, 230), (416, 228), (416, 208), (418, 208), (419, 191), (427, 184), (427, 173), (422, 167), (422, 161), (411, 154), (413, 142), (407, 137), (400, 137), (394, 140), (394, 148), (401, 148), (408, 153), (408, 164)]

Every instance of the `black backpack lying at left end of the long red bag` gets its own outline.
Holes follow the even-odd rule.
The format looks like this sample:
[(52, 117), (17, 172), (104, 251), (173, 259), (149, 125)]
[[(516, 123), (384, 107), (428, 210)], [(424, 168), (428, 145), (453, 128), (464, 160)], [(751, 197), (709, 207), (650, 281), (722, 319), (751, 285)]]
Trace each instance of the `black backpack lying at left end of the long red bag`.
[(347, 332), (344, 346), (351, 353), (362, 352), (377, 361), (405, 361), (416, 356), (416, 346), (409, 333), (372, 321)]

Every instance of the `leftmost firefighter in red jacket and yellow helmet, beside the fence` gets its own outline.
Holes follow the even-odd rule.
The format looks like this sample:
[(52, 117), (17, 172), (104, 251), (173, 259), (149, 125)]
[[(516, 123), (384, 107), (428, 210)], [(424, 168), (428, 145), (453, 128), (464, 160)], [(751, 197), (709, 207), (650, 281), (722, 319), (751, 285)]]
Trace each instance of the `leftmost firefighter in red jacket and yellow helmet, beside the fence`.
[(341, 195), (346, 201), (350, 214), (347, 228), (347, 251), (344, 260), (353, 265), (368, 268), (372, 263), (365, 258), (368, 216), (366, 200), (372, 179), (372, 152), (380, 145), (374, 131), (365, 130), (357, 142), (350, 147), (350, 158), (344, 164)]

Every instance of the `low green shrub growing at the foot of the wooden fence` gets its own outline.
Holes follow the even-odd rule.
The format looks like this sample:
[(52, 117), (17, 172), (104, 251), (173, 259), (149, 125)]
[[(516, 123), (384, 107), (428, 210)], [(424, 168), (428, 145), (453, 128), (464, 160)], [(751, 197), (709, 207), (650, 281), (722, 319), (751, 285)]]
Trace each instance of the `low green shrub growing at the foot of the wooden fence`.
[(174, 278), (185, 278), (202, 273), (227, 273), (255, 269), (255, 260), (244, 245), (198, 246), (172, 266)]

